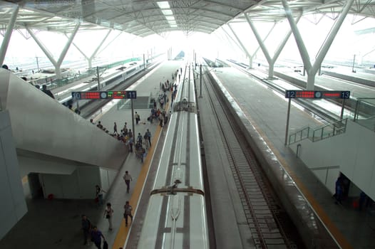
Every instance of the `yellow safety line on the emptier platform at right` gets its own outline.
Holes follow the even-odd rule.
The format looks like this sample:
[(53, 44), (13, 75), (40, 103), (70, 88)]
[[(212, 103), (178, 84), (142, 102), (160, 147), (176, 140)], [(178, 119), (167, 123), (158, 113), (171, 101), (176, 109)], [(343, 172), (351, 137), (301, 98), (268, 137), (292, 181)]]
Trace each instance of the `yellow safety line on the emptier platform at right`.
[(299, 179), (296, 174), (294, 174), (294, 171), (289, 168), (287, 162), (284, 160), (281, 154), (279, 154), (279, 150), (276, 149), (272, 142), (270, 142), (266, 135), (262, 132), (262, 129), (259, 129), (255, 125), (255, 122), (252, 122), (252, 125), (255, 126), (255, 129), (257, 129), (257, 132), (260, 133), (261, 137), (264, 139), (264, 141), (268, 144), (269, 148), (274, 152), (277, 159), (281, 162), (282, 166), (284, 166), (284, 169), (288, 172), (289, 176), (292, 177), (293, 181), (297, 184), (297, 187), (300, 191), (302, 191), (302, 194), (307, 198), (309, 203), (311, 204), (312, 208), (314, 208), (314, 211), (317, 213), (319, 218), (322, 220), (324, 225), (328, 228), (329, 232), (334, 236), (334, 239), (339, 243), (341, 248), (348, 248), (351, 249), (353, 246), (349, 243), (348, 240), (346, 240), (345, 236), (339, 231), (339, 228), (332, 222), (331, 218), (327, 215), (326, 211), (322, 208), (322, 206), (319, 205), (317, 200), (314, 198), (312, 193), (304, 186), (302, 181)]

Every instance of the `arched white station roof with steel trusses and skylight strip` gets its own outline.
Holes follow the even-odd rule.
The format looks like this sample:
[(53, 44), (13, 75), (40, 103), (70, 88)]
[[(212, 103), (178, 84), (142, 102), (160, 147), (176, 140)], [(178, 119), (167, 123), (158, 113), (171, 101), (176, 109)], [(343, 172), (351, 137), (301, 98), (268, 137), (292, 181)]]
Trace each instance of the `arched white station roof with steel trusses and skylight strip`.
[[(0, 1), (0, 24), (6, 27), (15, 4), (20, 6), (15, 28), (71, 33), (76, 22), (80, 30), (112, 28), (135, 36), (183, 31), (187, 36), (195, 32), (212, 33), (228, 22), (278, 22), (286, 18), (282, 1), (274, 0), (66, 0), (66, 1)], [(288, 1), (294, 16), (324, 14), (336, 18), (345, 0)], [(350, 12), (353, 22), (375, 17), (375, 0), (354, 0)], [(321, 16), (321, 15), (319, 15)], [(319, 21), (317, 15), (317, 22)]]

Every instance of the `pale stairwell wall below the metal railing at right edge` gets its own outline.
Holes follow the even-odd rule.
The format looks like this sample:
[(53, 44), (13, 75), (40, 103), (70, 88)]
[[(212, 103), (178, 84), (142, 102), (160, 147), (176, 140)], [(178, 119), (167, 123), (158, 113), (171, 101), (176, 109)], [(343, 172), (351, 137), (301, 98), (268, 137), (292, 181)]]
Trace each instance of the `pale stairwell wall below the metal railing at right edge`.
[[(290, 145), (294, 152), (297, 144), (301, 144), (299, 158), (326, 184), (332, 194), (341, 171), (375, 200), (375, 132), (348, 120), (344, 134), (319, 142), (304, 139)], [(339, 167), (329, 169), (332, 166)], [(356, 195), (358, 191), (349, 194)]]

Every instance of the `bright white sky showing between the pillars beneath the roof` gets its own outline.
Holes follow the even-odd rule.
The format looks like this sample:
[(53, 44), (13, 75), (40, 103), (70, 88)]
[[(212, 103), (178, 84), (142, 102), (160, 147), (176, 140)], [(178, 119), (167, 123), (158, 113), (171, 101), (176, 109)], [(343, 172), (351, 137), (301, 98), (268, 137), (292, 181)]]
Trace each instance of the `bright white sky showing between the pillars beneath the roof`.
[[(356, 54), (358, 61), (363, 60), (369, 61), (369, 63), (375, 63), (375, 33), (367, 33), (361, 36), (357, 36), (354, 33), (355, 31), (365, 28), (374, 28), (374, 19), (368, 18), (354, 25), (351, 24), (351, 21), (352, 18), (350, 17), (346, 18), (344, 21), (337, 37), (334, 39), (334, 43), (332, 43), (332, 47), (326, 59), (337, 61), (353, 60), (353, 56)], [(315, 25), (309, 21), (309, 16), (304, 16), (301, 21), (299, 21), (299, 31), (302, 34), (311, 59), (315, 58), (317, 55), (333, 22), (332, 19), (324, 17), (319, 25)], [(175, 23), (170, 21), (170, 25), (174, 26)], [(265, 37), (272, 27), (272, 23), (255, 23), (255, 26), (260, 36)], [(248, 23), (233, 23), (232, 28), (237, 33), (237, 36), (240, 37), (244, 46), (247, 47), (250, 54), (253, 54), (258, 46)], [(267, 50), (271, 55), (274, 54), (274, 50), (279, 46), (288, 28), (289, 24), (287, 21), (279, 23), (265, 41)], [(229, 28), (226, 28), (226, 30), (228, 33), (231, 32)], [(106, 33), (107, 31), (78, 32), (74, 38), (74, 43), (76, 43), (86, 55), (91, 56)], [(190, 34), (188, 38), (182, 32), (178, 31), (165, 34), (165, 39), (156, 35), (136, 38), (133, 35), (124, 33), (116, 38), (117, 35), (117, 31), (111, 32), (107, 41), (102, 46), (102, 49), (105, 48), (105, 50), (101, 51), (100, 49), (99, 51), (101, 51), (101, 53), (96, 55), (97, 58), (129, 58), (132, 55), (148, 53), (151, 49), (153, 49), (155, 53), (165, 53), (168, 48), (173, 47), (173, 51), (178, 51), (180, 49), (192, 51), (194, 49), (198, 56), (219, 56), (221, 59), (243, 58), (245, 61), (248, 61), (245, 53), (242, 52), (239, 46), (233, 41), (235, 37), (233, 36), (232, 39), (228, 39), (221, 31), (221, 28), (212, 35), (195, 33), (193, 35)], [(51, 51), (55, 60), (58, 60), (58, 56), (63, 50), (68, 38), (61, 34), (43, 31), (39, 31), (37, 36), (46, 48), (48, 48), (48, 51)], [(1, 41), (2, 38), (1, 36)], [(110, 41), (113, 41), (113, 43), (106, 46)], [(25, 39), (19, 32), (13, 32), (4, 63), (12, 64), (12, 61), (35, 57), (46, 58), (46, 55), (41, 51), (41, 48), (38, 48), (33, 38), (29, 37)], [(256, 57), (264, 58), (261, 50), (257, 52)], [(280, 58), (301, 60), (293, 35), (289, 38)], [(66, 55), (66, 60), (78, 59), (83, 60), (83, 55), (79, 53), (75, 46), (71, 45)]]

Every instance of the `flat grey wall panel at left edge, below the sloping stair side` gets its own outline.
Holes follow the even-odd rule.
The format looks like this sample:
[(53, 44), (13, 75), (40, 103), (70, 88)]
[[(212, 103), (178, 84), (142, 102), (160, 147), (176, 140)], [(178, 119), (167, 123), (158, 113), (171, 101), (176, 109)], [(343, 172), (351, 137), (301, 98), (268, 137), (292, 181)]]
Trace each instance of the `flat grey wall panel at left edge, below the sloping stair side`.
[(9, 112), (0, 112), (0, 239), (27, 212)]

